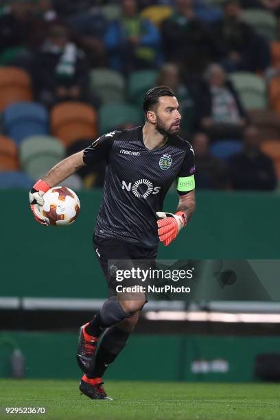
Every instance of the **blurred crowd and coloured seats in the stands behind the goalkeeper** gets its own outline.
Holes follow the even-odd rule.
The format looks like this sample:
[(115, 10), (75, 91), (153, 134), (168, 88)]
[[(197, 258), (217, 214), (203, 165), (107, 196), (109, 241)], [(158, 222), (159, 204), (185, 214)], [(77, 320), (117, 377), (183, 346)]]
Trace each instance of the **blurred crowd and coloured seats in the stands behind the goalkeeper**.
[[(0, 5), (0, 187), (29, 187), (98, 135), (143, 124), (143, 94), (165, 84), (196, 152), (197, 188), (277, 188), (280, 0)], [(65, 185), (103, 181), (101, 162)]]

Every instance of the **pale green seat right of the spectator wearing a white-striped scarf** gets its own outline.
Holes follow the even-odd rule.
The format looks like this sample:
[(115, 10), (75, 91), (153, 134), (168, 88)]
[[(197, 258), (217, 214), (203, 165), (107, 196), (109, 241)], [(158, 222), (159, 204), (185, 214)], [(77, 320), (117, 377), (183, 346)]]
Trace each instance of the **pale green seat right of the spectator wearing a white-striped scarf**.
[(239, 93), (246, 110), (267, 108), (266, 84), (260, 76), (246, 71), (238, 71), (231, 73), (229, 78)]

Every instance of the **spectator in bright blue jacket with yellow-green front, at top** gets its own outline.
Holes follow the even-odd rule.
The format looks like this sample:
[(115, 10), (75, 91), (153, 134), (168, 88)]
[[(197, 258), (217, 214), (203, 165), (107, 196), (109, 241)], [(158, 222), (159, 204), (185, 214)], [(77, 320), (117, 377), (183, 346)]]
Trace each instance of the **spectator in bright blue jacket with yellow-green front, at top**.
[(161, 62), (158, 30), (138, 14), (136, 0), (122, 0), (122, 19), (108, 24), (104, 38), (110, 67), (130, 73)]

